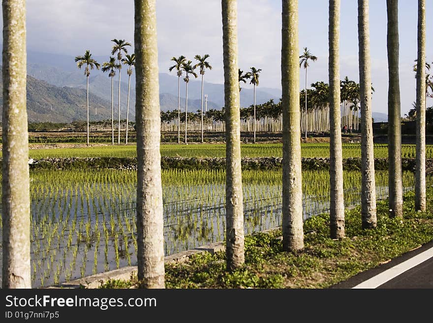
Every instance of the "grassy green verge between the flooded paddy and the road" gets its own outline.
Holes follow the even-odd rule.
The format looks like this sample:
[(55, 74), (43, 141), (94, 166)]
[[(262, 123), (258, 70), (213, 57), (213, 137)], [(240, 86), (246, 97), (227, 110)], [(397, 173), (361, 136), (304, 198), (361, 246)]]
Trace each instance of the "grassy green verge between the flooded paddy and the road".
[[(225, 253), (201, 253), (183, 264), (166, 264), (167, 288), (328, 288), (433, 239), (433, 189), (427, 212), (416, 212), (414, 193), (404, 195), (404, 216), (389, 218), (388, 201), (377, 202), (377, 227), (361, 229), (361, 207), (346, 210), (346, 238), (329, 238), (329, 214), (304, 223), (305, 249), (282, 251), (281, 230), (245, 237), (245, 265), (226, 271)], [(136, 277), (101, 288), (139, 286)]]

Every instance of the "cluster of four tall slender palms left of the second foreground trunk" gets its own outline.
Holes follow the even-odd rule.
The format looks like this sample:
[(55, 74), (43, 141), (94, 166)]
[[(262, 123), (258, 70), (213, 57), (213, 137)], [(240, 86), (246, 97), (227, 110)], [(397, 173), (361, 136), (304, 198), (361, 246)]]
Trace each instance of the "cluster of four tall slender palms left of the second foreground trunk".
[[(116, 71), (119, 71), (119, 105), (118, 105), (118, 144), (120, 145), (120, 103), (121, 103), (121, 95), (120, 95), (120, 86), (121, 86), (121, 70), (122, 64), (127, 65), (127, 74), (128, 74), (128, 97), (127, 97), (127, 105), (126, 105), (126, 124), (128, 122), (129, 117), (129, 90), (131, 83), (131, 75), (132, 75), (132, 66), (135, 65), (135, 54), (128, 55), (127, 46), (131, 46), (130, 43), (125, 41), (124, 39), (112, 39), (113, 45), (111, 55), (116, 55), (118, 62), (116, 62), (116, 58), (114, 56), (110, 56), (108, 61), (102, 63), (102, 72), (109, 72), (108, 77), (111, 78), (111, 141), (114, 145), (114, 107), (113, 107), (113, 79), (116, 75)], [(122, 52), (125, 54), (125, 58), (122, 56)], [(78, 68), (85, 66), (84, 74), (87, 77), (87, 145), (89, 145), (89, 76), (90, 70), (93, 68), (99, 69), (100, 64), (92, 58), (92, 54), (90, 50), (86, 50), (83, 56), (76, 56), (75, 62), (77, 62)], [(125, 144), (128, 143), (128, 128), (126, 127), (126, 140)]]

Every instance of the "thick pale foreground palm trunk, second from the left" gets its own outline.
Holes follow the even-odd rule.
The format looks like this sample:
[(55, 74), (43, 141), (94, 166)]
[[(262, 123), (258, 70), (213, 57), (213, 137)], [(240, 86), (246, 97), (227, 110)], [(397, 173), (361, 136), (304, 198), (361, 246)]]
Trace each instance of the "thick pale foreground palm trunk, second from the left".
[(137, 276), (164, 288), (160, 107), (155, 0), (135, 0), (135, 121), (137, 127)]

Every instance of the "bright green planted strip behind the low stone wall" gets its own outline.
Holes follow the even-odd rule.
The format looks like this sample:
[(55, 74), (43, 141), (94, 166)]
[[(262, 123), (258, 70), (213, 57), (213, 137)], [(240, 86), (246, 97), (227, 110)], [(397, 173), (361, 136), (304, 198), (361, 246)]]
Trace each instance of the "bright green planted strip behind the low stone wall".
[[(303, 157), (329, 157), (329, 144), (302, 144)], [(361, 157), (360, 144), (344, 144), (343, 158)], [(282, 144), (242, 144), (242, 157), (282, 157)], [(135, 146), (97, 146), (84, 148), (48, 148), (30, 149), (31, 158), (44, 157), (136, 157)], [(168, 157), (225, 157), (225, 145), (190, 144), (161, 145), (161, 155)], [(374, 145), (374, 156), (386, 158), (388, 147), (385, 144)], [(427, 158), (433, 157), (433, 145), (426, 147)], [(415, 145), (402, 145), (403, 158), (415, 158)]]

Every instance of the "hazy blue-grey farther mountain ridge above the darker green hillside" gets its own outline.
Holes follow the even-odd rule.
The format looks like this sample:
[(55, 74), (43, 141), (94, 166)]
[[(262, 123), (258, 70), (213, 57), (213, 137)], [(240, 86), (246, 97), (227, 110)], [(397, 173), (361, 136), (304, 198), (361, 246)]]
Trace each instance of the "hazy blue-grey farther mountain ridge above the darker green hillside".
[[(99, 63), (107, 60), (108, 57), (94, 57)], [(78, 70), (74, 62), (73, 56), (56, 55), (56, 54), (45, 54), (33, 51), (28, 51), (28, 74), (44, 80), (50, 84), (56, 86), (68, 86), (74, 88), (84, 88), (86, 78), (83, 75), (83, 71)], [(121, 85), (121, 110), (125, 109), (126, 96), (127, 96), (127, 82), (128, 78), (125, 73), (126, 69), (122, 69), (122, 82)], [(135, 72), (135, 71), (134, 71)], [(114, 88), (118, 88), (119, 77), (116, 75), (114, 79)], [(100, 70), (92, 70), (89, 79), (89, 90), (98, 96), (101, 96), (105, 100), (111, 98), (111, 81), (107, 74), (102, 73)], [(116, 86), (117, 84), (117, 86)], [(115, 92), (115, 101), (117, 101), (117, 90)], [(177, 96), (178, 96), (178, 78), (173, 74), (159, 73), (159, 92), (174, 95), (176, 97), (176, 108), (177, 108)], [(208, 94), (208, 108), (210, 102), (215, 104), (216, 109), (220, 109), (224, 106), (224, 85), (206, 82), (206, 74), (204, 77), (204, 94)], [(130, 104), (134, 106), (135, 99), (135, 77), (134, 74), (131, 77), (131, 100)], [(185, 101), (185, 82), (181, 80), (181, 95), (184, 96)], [(201, 95), (201, 80), (200, 76), (197, 79), (190, 78), (188, 84), (188, 99), (200, 99)], [(264, 103), (269, 99), (274, 99), (278, 102), (281, 97), (281, 90), (276, 88), (265, 88), (258, 86), (256, 88), (256, 103)], [(171, 100), (171, 98), (170, 98)], [(181, 101), (182, 102), (182, 101)], [(253, 90), (251, 88), (243, 88), (240, 93), (240, 103), (242, 107), (248, 107), (253, 103)], [(168, 103), (161, 101), (161, 109), (168, 106)], [(185, 103), (181, 108), (185, 109)], [(189, 108), (189, 101), (188, 101)], [(211, 108), (212, 109), (212, 108)], [(188, 109), (189, 110), (189, 109)], [(132, 115), (134, 115), (134, 108), (132, 109)]]

